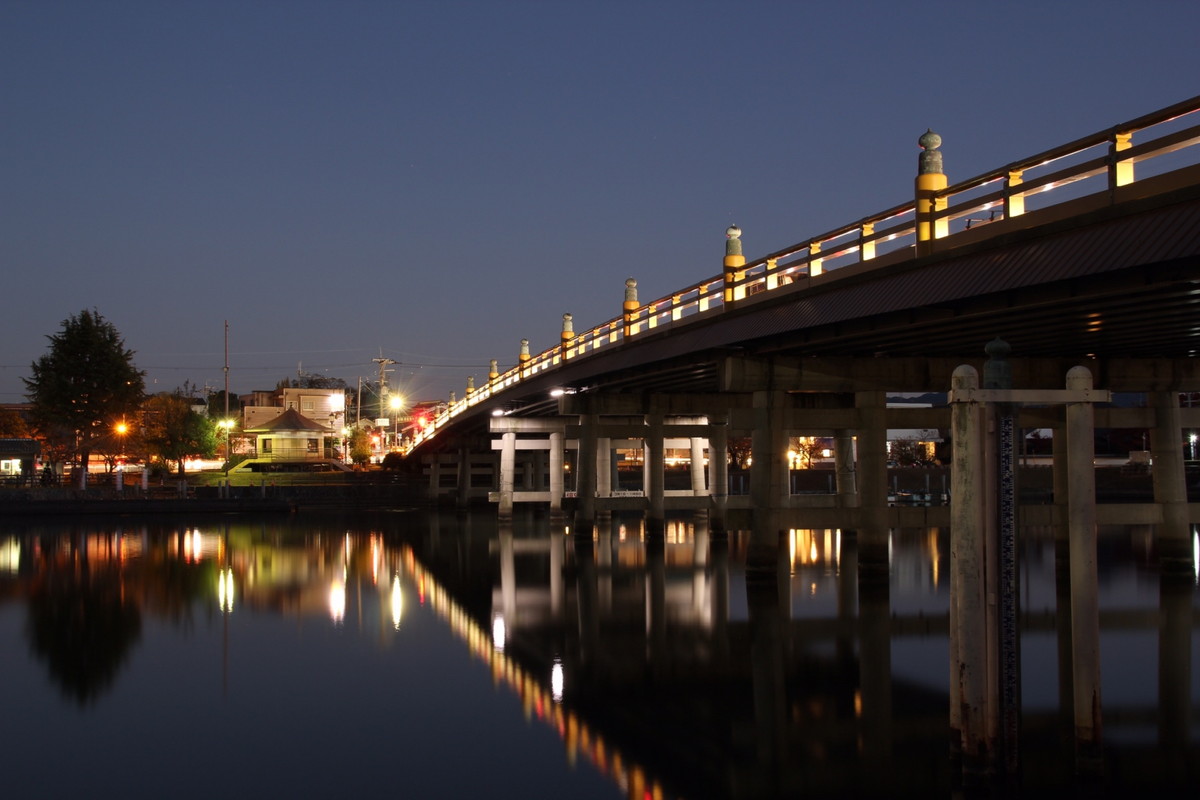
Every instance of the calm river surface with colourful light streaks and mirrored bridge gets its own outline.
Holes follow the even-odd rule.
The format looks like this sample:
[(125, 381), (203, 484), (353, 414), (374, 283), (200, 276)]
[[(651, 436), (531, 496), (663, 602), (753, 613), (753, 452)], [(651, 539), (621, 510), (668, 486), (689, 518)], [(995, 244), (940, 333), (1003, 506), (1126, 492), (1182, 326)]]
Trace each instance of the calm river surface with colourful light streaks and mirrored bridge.
[[(578, 542), (488, 512), (10, 523), (8, 786), (114, 788), (100, 745), (121, 741), (146, 765), (128, 796), (222, 790), (187, 744), (238, 794), (949, 792), (948, 531), (892, 531), (882, 590), (859, 585), (851, 531), (787, 531), (767, 584), (750, 539), (686, 518), (655, 541), (620, 517)], [(1160, 589), (1151, 539), (1102, 535), (1105, 744), (1127, 786), (1198, 788), (1178, 758), (1129, 771), (1200, 760), (1195, 581)], [(1069, 763), (1058, 576), (1052, 531), (1025, 531), (1022, 741), (1043, 786), (1070, 780), (1042, 752)], [(62, 751), (77, 769), (47, 769)]]

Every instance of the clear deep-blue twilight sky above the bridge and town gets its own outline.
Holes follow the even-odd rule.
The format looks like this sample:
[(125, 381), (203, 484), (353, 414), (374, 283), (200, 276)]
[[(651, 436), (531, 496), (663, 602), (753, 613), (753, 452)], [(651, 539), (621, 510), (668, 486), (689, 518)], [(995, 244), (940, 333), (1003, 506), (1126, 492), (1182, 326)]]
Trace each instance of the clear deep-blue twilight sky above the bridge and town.
[(150, 391), (461, 397), (748, 259), (1200, 94), (1195, 0), (0, 0), (0, 403), (95, 308)]

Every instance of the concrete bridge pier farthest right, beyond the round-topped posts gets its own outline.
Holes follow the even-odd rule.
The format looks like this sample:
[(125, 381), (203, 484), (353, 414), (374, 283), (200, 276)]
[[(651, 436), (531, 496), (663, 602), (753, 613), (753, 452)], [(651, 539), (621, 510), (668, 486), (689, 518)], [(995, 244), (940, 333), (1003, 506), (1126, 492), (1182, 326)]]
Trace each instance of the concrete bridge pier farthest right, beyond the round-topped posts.
[(1183, 468), (1183, 423), (1178, 392), (1151, 392), (1154, 427), (1150, 432), (1154, 503), (1163, 509), (1156, 546), (1164, 570), (1192, 572), (1188, 487)]

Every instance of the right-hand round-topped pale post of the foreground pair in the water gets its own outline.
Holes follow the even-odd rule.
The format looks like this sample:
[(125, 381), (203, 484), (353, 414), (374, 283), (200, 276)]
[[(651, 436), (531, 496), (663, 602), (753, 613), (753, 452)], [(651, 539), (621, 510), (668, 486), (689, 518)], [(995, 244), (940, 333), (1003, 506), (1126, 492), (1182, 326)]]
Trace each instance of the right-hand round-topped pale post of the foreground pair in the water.
[[(1086, 367), (1067, 372), (1068, 390), (1092, 389)], [(1067, 404), (1067, 528), (1070, 541), (1070, 640), (1075, 678), (1075, 768), (1098, 774), (1100, 736), (1099, 582), (1096, 569), (1094, 410)]]

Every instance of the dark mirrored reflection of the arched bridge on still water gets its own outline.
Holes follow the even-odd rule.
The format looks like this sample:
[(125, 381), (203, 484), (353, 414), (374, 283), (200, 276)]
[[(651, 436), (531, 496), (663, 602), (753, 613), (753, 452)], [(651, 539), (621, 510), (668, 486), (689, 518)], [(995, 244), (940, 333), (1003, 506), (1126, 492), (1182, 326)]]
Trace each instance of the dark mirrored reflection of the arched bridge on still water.
[[(791, 529), (764, 547), (749, 531), (712, 535), (702, 513), (670, 521), (661, 536), (643, 517), (612, 515), (590, 537), (526, 516), (486, 537), (485, 561), (463, 559), (461, 537), (448, 535), (461, 521), (434, 519), (419, 548), (425, 575), (443, 572), (442, 585), (466, 590), (480, 576), (462, 565), (487, 564), (491, 608), (476, 619), (491, 631), (484, 649), (504, 654), (498, 674), (515, 676), (508, 682), (527, 706), (553, 698), (572, 757), (613, 769), (623, 784), (618, 765), (638, 765), (652, 788), (644, 796), (964, 788), (947, 747), (947, 530), (889, 531), (881, 575), (859, 569), (857, 536), (840, 529)], [(1159, 579), (1145, 528), (1102, 530), (1108, 729), (1104, 764), (1080, 774), (1072, 593), (1056, 540), (1051, 528), (1022, 535), (1024, 702), (1012, 786), (1200, 788), (1196, 576)]]

